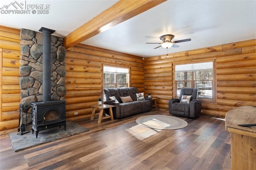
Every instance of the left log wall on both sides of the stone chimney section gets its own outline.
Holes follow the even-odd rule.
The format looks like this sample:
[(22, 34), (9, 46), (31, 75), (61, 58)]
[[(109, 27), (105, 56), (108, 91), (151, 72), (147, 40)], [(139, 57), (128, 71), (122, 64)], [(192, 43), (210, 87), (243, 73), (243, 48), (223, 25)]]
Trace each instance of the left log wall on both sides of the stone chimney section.
[[(0, 130), (18, 127), (20, 104), (20, 30), (0, 26)], [(144, 61), (127, 55), (87, 45), (77, 45), (66, 51), (66, 117), (90, 117), (97, 99), (102, 97), (102, 65), (130, 68), (130, 86), (144, 91)], [(74, 115), (78, 112), (78, 115)]]

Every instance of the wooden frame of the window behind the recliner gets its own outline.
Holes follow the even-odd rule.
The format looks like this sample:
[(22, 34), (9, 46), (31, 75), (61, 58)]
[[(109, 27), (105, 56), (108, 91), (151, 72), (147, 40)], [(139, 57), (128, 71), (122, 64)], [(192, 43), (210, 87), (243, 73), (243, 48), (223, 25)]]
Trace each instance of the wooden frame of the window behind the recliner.
[[(194, 61), (194, 62), (177, 62), (177, 63), (172, 63), (172, 75), (173, 75), (173, 97), (174, 98), (179, 98), (178, 94), (177, 94), (177, 82), (176, 81), (176, 73), (175, 73), (175, 66), (176, 65), (183, 65), (183, 64), (194, 64), (194, 63), (206, 63), (206, 62), (212, 62), (212, 74), (213, 74), (213, 79), (212, 79), (212, 99), (207, 99), (207, 98), (198, 98), (200, 101), (202, 102), (206, 102), (206, 103), (216, 103), (216, 74), (215, 74), (215, 70), (216, 70), (216, 60), (215, 59), (210, 59), (210, 60), (198, 60), (198, 61)], [(192, 77), (194, 77), (194, 74), (192, 75)], [(196, 82), (197, 80), (188, 80), (188, 82)], [(208, 81), (208, 80), (207, 80)]]

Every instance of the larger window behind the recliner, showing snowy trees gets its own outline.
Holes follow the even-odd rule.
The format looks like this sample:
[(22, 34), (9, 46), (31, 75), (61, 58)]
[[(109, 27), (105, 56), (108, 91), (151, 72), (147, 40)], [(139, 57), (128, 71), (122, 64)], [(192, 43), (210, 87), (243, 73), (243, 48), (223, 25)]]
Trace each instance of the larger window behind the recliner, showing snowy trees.
[(182, 87), (198, 89), (198, 98), (213, 99), (213, 62), (175, 65), (176, 97)]

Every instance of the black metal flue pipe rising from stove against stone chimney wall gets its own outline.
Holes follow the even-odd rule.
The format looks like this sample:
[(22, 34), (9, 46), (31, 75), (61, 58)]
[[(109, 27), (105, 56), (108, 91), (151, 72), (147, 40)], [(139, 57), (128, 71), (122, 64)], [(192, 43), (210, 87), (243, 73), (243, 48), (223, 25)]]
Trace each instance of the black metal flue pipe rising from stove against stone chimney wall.
[(51, 101), (51, 34), (55, 30), (41, 27), (43, 33), (43, 102)]

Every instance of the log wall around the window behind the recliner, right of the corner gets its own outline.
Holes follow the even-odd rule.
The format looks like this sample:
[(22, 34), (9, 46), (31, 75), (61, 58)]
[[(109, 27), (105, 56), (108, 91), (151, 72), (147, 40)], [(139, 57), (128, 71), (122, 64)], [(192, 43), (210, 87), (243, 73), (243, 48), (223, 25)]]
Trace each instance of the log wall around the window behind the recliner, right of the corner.
[(202, 100), (203, 114), (225, 116), (230, 109), (256, 105), (255, 39), (145, 58), (146, 93), (158, 97), (157, 105), (168, 108), (174, 97), (175, 63), (215, 61), (215, 102)]

